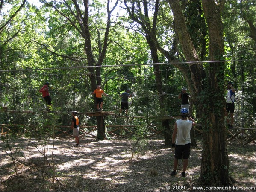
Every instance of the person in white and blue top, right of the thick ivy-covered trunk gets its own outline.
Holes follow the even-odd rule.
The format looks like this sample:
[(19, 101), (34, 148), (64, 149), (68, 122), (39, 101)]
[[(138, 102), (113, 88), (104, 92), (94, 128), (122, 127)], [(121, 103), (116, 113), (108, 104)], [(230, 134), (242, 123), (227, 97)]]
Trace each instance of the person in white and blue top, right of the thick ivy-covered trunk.
[(227, 117), (228, 128), (233, 128), (234, 111), (235, 111), (235, 88), (234, 88), (234, 84), (230, 81), (227, 84), (226, 111), (225, 111), (225, 116), (228, 116), (228, 113), (230, 113), (230, 119), (229, 117)]

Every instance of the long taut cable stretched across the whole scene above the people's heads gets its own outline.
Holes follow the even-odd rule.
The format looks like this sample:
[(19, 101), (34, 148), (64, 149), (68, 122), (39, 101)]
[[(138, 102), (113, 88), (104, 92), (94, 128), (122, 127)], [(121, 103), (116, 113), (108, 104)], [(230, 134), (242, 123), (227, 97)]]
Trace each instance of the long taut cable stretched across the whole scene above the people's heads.
[(42, 69), (19, 69), (19, 70), (1, 70), (0, 72), (15, 72), (15, 71), (38, 71), (38, 70), (60, 70), (60, 69), (83, 69), (83, 68), (97, 68), (97, 67), (136, 67), (142, 65), (166, 65), (166, 64), (197, 64), (197, 63), (222, 63), (233, 61), (254, 61), (250, 60), (224, 60), (224, 61), (187, 61), (187, 62), (173, 62), (173, 63), (149, 63), (149, 64), (125, 64), (125, 65), (97, 65), (97, 66), (80, 66), (80, 67), (59, 67), (59, 68), (42, 68)]

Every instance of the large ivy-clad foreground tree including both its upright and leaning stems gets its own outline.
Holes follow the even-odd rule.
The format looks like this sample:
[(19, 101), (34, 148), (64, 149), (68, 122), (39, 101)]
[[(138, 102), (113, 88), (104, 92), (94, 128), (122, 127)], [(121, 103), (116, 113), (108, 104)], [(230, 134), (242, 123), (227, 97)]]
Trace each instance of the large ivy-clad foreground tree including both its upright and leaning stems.
[[(198, 61), (197, 53), (190, 41), (184, 15), (179, 1), (169, 1), (174, 14), (175, 30), (179, 36), (183, 52), (188, 60)], [(202, 1), (204, 15), (209, 31), (209, 59), (223, 60), (224, 40), (221, 21), (221, 8), (214, 1)], [(228, 184), (228, 156), (224, 126), (224, 70), (223, 62), (209, 64), (206, 68), (208, 79), (203, 81), (206, 71), (200, 64), (190, 65), (191, 80), (197, 96), (200, 96), (199, 108), (202, 109), (203, 155), (200, 180), (203, 185)]]

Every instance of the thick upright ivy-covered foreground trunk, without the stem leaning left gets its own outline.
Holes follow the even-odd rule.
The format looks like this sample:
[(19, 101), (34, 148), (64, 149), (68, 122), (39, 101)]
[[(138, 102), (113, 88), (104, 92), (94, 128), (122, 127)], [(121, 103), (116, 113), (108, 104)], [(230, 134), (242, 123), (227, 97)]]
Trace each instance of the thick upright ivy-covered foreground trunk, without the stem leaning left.
[[(215, 1), (202, 1), (204, 15), (209, 28), (209, 57), (218, 61), (224, 55), (224, 40), (221, 12)], [(200, 181), (203, 185), (227, 185), (229, 160), (224, 126), (224, 70), (225, 63), (208, 66), (209, 76), (203, 98), (203, 154)], [(212, 98), (212, 99), (210, 99)]]

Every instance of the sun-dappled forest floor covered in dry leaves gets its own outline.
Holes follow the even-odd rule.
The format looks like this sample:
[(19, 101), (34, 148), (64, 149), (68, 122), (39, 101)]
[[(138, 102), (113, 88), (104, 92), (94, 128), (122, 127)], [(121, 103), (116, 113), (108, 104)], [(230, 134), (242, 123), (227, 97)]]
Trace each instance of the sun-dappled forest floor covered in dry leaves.
[[(185, 178), (181, 177), (181, 160), (177, 176), (170, 176), (174, 151), (165, 147), (162, 136), (140, 140), (131, 159), (135, 142), (131, 138), (96, 142), (83, 137), (80, 147), (74, 147), (72, 137), (54, 142), (12, 137), (7, 145), (1, 137), (1, 191), (207, 191), (194, 188), (200, 176), (200, 138), (198, 146), (191, 148)], [(230, 184), (230, 190), (208, 191), (255, 191), (255, 144), (243, 147), (231, 140), (227, 148), (230, 175), (236, 183)]]

